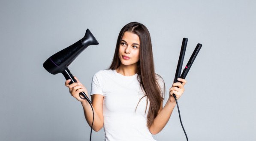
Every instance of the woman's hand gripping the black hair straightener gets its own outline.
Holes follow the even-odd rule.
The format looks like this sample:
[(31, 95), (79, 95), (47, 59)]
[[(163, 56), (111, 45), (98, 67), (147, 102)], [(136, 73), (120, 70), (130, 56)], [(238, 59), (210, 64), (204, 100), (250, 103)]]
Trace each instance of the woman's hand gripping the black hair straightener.
[(178, 81), (180, 81), (180, 82), (176, 82), (176, 83), (172, 84), (172, 87), (170, 88), (170, 92), (169, 92), (170, 102), (176, 103), (175, 98), (173, 97), (173, 94), (175, 94), (175, 96), (178, 100), (185, 91), (184, 85), (187, 83), (187, 81), (182, 78), (178, 78)]

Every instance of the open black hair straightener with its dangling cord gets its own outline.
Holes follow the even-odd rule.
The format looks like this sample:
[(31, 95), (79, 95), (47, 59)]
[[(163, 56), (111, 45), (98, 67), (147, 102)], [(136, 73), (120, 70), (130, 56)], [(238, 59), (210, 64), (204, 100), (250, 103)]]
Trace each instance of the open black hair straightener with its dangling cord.
[[(193, 54), (191, 55), (190, 60), (188, 61), (187, 65), (185, 66), (185, 68), (183, 69), (183, 72), (181, 74), (182, 64), (183, 64), (183, 60), (184, 60), (184, 56), (185, 56), (185, 52), (186, 52), (186, 47), (187, 47), (187, 38), (183, 38), (182, 45), (181, 45), (181, 53), (180, 53), (180, 57), (179, 57), (179, 61), (178, 61), (178, 65), (177, 65), (177, 69), (176, 69), (175, 78), (174, 78), (173, 83), (180, 82), (180, 81), (178, 81), (178, 78), (182, 78), (182, 79), (186, 78), (187, 73), (190, 70), (190, 67), (192, 66), (194, 60), (196, 59), (197, 54), (199, 53), (199, 51), (202, 47), (202, 44), (197, 44), (196, 45), (196, 48), (195, 48)], [(179, 112), (180, 121), (181, 121), (181, 113), (180, 113), (178, 101), (177, 101), (177, 98), (176, 98), (175, 94), (173, 94), (173, 97), (175, 98), (177, 108), (178, 108), (178, 112)], [(183, 131), (186, 135), (186, 138), (187, 138), (187, 134), (186, 134), (185, 129), (182, 125), (182, 121), (181, 121), (181, 126), (182, 126), (182, 129), (183, 129)], [(188, 141), (188, 138), (187, 138), (187, 141)]]

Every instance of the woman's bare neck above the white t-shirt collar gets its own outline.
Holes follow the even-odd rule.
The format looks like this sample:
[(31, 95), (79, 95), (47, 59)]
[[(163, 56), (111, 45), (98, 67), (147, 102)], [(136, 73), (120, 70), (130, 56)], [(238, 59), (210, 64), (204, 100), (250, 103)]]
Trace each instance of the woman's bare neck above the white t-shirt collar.
[(121, 64), (117, 69), (117, 73), (120, 73), (121, 75), (124, 76), (133, 76), (137, 73), (137, 64), (134, 65), (123, 65)]

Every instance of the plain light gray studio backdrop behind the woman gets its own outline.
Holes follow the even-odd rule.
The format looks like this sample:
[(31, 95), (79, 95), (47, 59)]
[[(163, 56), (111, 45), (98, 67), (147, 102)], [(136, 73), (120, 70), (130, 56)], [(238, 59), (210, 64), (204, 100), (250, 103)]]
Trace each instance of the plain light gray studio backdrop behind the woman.
[[(167, 94), (182, 38), (188, 38), (185, 64), (196, 44), (203, 45), (179, 99), (189, 140), (255, 141), (255, 7), (255, 0), (1, 0), (0, 140), (88, 141), (80, 102), (63, 75), (51, 75), (42, 63), (89, 28), (99, 45), (69, 69), (90, 91), (93, 74), (111, 63), (120, 29), (138, 21), (151, 33)], [(102, 141), (103, 129), (92, 138)], [(177, 108), (154, 138), (186, 140)]]

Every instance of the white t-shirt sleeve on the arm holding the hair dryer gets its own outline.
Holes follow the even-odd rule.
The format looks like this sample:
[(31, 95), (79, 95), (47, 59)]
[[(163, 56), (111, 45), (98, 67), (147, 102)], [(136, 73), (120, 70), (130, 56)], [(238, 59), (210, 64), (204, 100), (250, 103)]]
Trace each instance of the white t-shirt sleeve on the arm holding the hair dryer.
[(91, 89), (90, 89), (90, 95), (100, 94), (103, 96), (102, 81), (100, 79), (100, 76), (101, 75), (99, 74), (99, 72), (97, 72), (96, 74), (93, 75)]

